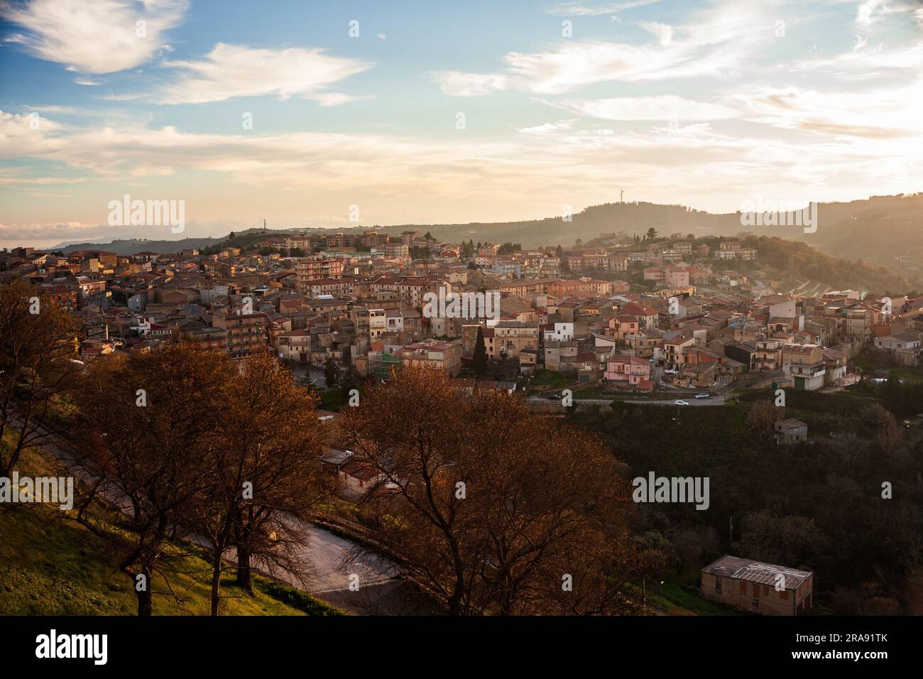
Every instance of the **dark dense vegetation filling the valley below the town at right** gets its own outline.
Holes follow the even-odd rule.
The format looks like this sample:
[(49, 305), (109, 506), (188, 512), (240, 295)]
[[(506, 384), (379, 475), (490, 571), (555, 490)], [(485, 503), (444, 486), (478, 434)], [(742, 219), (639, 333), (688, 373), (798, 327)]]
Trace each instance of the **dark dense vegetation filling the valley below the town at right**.
[[(809, 425), (809, 443), (795, 445), (775, 445), (748, 417), (770, 395), (694, 409), (617, 402), (612, 414), (575, 417), (604, 436), (631, 477), (710, 479), (707, 511), (640, 505), (636, 529), (672, 551), (677, 573), (732, 553), (814, 571), (820, 611), (920, 612), (923, 425), (906, 426), (881, 406), (901, 417), (923, 411), (919, 384), (790, 391), (785, 417)], [(891, 499), (882, 498), (884, 482)]]

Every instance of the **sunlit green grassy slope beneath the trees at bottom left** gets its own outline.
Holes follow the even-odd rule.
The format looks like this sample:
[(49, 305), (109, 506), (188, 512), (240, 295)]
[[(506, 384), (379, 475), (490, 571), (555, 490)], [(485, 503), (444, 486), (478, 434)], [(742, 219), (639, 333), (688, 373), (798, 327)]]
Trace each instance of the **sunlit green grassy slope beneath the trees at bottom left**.
[[(20, 475), (55, 474), (50, 458), (34, 450), (23, 456)], [(115, 516), (112, 516), (114, 519)], [(136, 599), (127, 576), (114, 571), (103, 540), (66, 520), (56, 507), (0, 505), (0, 614), (134, 615)], [(155, 615), (207, 615), (210, 567), (198, 556), (169, 564), (170, 584), (185, 601), (154, 596)], [(222, 582), (222, 615), (328, 615), (336, 609), (292, 588), (257, 577), (256, 596)], [(161, 577), (155, 592), (167, 591)]]

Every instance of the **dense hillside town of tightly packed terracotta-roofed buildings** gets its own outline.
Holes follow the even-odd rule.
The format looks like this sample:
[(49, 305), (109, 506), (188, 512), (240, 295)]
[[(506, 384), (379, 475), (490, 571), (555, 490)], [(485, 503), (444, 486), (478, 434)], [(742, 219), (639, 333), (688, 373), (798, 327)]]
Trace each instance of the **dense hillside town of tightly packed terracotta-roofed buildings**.
[[(267, 235), (210, 254), (20, 247), (0, 253), (0, 277), (78, 316), (84, 361), (178, 337), (233, 358), (271, 347), (316, 381), (325, 369), (387, 380), (416, 364), (461, 388), (524, 385), (545, 371), (606, 393), (726, 394), (743, 383), (842, 388), (862, 379), (851, 359), (866, 346), (897, 365), (919, 360), (923, 297), (773, 289), (734, 271), (737, 261), (758, 268), (759, 253), (733, 238), (600, 236), (617, 244), (520, 249), (356, 230)], [(499, 298), (490, 317), (426, 305), (485, 292)], [(479, 338), (489, 375), (472, 369)]]

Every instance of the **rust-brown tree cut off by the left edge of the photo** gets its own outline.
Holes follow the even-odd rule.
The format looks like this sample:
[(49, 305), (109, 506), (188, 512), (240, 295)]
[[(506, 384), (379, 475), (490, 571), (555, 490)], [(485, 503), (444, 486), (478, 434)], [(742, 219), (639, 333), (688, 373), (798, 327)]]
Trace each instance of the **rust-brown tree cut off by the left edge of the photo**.
[(53, 407), (78, 375), (77, 333), (78, 322), (31, 285), (0, 285), (0, 441), (14, 432), (0, 448), (0, 476), (46, 441)]

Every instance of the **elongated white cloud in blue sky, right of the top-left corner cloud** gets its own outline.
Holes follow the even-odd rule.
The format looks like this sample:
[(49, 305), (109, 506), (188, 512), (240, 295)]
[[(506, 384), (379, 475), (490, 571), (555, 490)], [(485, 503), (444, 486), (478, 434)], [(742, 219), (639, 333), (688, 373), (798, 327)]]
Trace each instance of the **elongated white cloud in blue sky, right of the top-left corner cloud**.
[[(256, 95), (317, 98), (325, 87), (371, 64), (326, 55), (321, 49), (260, 49), (219, 42), (204, 60), (166, 61), (163, 66), (186, 73), (155, 95), (160, 103), (207, 103)], [(334, 101), (330, 97), (344, 96), (328, 95), (327, 105)]]

